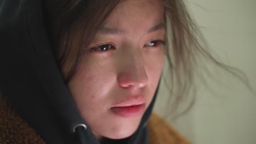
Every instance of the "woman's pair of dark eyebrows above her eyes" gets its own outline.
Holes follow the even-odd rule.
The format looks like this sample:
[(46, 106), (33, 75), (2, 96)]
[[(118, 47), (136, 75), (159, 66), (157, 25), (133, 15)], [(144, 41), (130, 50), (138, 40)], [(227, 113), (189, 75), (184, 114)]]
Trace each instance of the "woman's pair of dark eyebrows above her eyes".
[[(165, 25), (164, 23), (159, 23), (158, 25), (150, 28), (148, 30), (148, 33), (152, 33), (152, 32), (155, 32), (155, 31), (158, 31), (160, 29), (165, 29)], [(124, 35), (126, 34), (127, 32), (126, 31), (123, 31), (121, 29), (115, 29), (115, 28), (107, 28), (107, 27), (101, 27), (99, 30), (98, 30), (98, 34), (106, 34), (106, 35)]]

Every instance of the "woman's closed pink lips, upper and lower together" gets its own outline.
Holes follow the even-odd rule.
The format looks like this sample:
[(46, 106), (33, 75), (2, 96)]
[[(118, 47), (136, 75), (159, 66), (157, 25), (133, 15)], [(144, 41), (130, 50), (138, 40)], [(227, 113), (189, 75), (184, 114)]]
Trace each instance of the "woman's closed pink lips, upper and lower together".
[(110, 110), (115, 113), (115, 115), (121, 117), (141, 116), (145, 109), (145, 101), (146, 99), (143, 95), (130, 97), (114, 104), (110, 107)]

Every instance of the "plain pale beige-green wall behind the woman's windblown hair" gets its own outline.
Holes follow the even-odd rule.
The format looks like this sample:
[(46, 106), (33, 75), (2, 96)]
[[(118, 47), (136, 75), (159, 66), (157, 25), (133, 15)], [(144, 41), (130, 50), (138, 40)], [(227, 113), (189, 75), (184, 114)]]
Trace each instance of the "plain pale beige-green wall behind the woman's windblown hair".
[[(220, 61), (242, 70), (256, 91), (256, 1), (188, 0), (187, 3)], [(200, 86), (193, 108), (167, 121), (193, 143), (256, 143), (256, 95), (234, 76), (214, 68), (212, 71), (218, 81), (207, 79), (211, 89)], [(161, 85), (155, 105), (161, 116), (168, 112), (165, 105), (168, 97), (171, 97), (168, 89)]]

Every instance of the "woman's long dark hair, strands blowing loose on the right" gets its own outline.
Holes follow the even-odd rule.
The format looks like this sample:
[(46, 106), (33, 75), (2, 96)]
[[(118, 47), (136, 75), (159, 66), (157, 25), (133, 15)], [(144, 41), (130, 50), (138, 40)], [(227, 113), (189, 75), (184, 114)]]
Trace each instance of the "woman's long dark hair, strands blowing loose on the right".
[[(56, 61), (68, 83), (86, 52), (98, 28), (124, 0), (55, 0), (43, 1), (45, 27), (55, 52)], [(189, 15), (182, 0), (162, 0), (167, 26), (166, 57), (171, 77), (171, 97), (175, 101), (185, 95), (195, 94), (194, 79), (197, 68), (205, 61), (235, 73), (235, 69), (212, 57), (199, 27)], [(244, 81), (246, 83), (246, 81)], [(193, 104), (193, 101), (191, 105)]]

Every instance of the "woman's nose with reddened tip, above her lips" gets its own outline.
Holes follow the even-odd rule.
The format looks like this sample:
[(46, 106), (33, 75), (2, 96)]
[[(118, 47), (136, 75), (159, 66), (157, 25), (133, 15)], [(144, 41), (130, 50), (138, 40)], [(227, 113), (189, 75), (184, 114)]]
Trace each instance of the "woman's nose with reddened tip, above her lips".
[(124, 53), (120, 57), (118, 83), (121, 87), (142, 88), (148, 83), (148, 75), (140, 52)]

